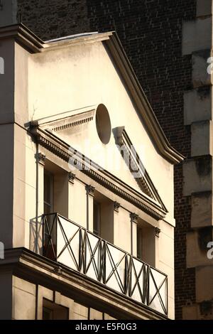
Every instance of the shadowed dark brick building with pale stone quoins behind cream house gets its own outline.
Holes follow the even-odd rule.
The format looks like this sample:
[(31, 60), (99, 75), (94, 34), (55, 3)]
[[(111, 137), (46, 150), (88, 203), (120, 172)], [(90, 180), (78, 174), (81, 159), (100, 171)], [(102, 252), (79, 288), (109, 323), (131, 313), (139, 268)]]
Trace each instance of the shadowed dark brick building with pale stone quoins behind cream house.
[(19, 21), (44, 40), (118, 33), (163, 131), (186, 158), (174, 174), (175, 318), (212, 318), (212, 0), (1, 1), (1, 25)]

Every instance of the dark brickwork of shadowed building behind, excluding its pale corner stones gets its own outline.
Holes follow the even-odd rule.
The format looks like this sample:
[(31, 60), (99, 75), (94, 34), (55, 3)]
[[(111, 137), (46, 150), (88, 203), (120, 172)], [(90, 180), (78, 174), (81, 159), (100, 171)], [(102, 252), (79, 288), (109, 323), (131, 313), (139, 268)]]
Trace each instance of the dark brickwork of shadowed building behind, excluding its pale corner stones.
[[(85, 31), (115, 30), (170, 143), (190, 157), (183, 91), (192, 88), (192, 58), (182, 57), (182, 21), (195, 18), (195, 0), (19, 0), (23, 23), (44, 40)], [(195, 302), (195, 269), (186, 269), (190, 197), (182, 197), (175, 166), (175, 310)]]

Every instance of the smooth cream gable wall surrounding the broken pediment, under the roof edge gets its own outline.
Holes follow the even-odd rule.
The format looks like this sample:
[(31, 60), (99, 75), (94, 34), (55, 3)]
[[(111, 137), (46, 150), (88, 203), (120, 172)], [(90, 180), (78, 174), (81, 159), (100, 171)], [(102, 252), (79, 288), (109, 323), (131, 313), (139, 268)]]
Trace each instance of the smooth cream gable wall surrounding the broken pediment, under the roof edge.
[[(173, 166), (155, 150), (104, 45), (100, 42), (78, 45), (29, 57), (29, 119), (41, 119), (99, 103), (104, 103), (109, 110), (112, 128), (125, 125), (138, 153), (142, 151), (141, 160), (170, 212), (167, 219), (173, 223)], [(94, 122), (89, 126), (89, 141), (100, 144)], [(85, 134), (87, 133), (84, 133), (84, 139)], [(82, 146), (81, 139), (82, 137), (79, 144)], [(69, 144), (73, 143), (75, 139), (70, 136)], [(112, 148), (113, 135), (110, 144), (101, 144), (106, 155), (110, 156)], [(89, 157), (94, 158), (94, 161), (98, 160), (97, 156), (100, 154), (92, 154), (91, 152)], [(102, 166), (105, 167), (104, 162)], [(156, 173), (156, 166), (160, 177)], [(122, 175), (119, 171), (114, 173), (137, 188), (128, 172)]]

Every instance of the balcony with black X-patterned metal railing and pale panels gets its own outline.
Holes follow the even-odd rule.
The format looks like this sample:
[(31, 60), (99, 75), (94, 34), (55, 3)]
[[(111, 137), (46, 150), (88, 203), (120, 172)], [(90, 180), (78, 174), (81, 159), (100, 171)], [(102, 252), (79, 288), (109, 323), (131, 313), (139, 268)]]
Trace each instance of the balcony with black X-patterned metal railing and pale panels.
[(43, 256), (168, 314), (168, 277), (57, 213), (42, 216)]

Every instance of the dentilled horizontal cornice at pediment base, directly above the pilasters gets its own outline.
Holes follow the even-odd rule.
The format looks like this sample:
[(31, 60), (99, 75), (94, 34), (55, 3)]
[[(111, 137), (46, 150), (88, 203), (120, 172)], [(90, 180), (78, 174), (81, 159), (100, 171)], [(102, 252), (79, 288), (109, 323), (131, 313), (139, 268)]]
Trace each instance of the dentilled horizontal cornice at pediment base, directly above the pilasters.
[(112, 176), (111, 173), (102, 170), (97, 163), (94, 163), (85, 156), (82, 157), (81, 153), (73, 149), (72, 151), (75, 151), (76, 154), (72, 156), (70, 146), (53, 134), (39, 129), (36, 126), (31, 128), (30, 133), (34, 136), (38, 144), (48, 149), (48, 151), (51, 151), (56, 156), (59, 156), (62, 160), (67, 161), (67, 163), (71, 163), (82, 173), (103, 185), (104, 188), (111, 190), (113, 193), (148, 213), (148, 215), (151, 215), (151, 217), (154, 217), (156, 220), (161, 220), (165, 217), (166, 211), (161, 208), (158, 203), (154, 203), (151, 198), (136, 192), (136, 190), (133, 190), (129, 185), (126, 185), (123, 181)]

